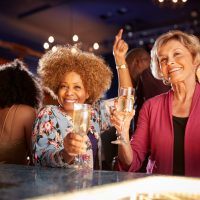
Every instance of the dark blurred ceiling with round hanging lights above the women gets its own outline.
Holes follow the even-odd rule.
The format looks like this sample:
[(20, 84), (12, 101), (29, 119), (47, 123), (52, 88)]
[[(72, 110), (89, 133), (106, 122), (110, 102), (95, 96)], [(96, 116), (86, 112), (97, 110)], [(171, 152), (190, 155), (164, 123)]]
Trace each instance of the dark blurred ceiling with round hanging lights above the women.
[(119, 29), (130, 48), (148, 51), (168, 30), (199, 37), (200, 0), (1, 0), (0, 26), (0, 63), (21, 58), (36, 73), (46, 50), (77, 44), (113, 68), (112, 97), (117, 92), (112, 45)]

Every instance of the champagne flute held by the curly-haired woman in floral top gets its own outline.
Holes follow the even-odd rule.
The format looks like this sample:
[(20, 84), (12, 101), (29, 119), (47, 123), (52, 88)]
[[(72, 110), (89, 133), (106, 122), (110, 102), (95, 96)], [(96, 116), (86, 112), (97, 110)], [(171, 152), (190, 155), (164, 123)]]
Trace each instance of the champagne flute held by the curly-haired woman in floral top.
[[(87, 135), (90, 127), (91, 119), (91, 105), (74, 103), (73, 111), (73, 133), (84, 136)], [(78, 155), (74, 164), (77, 168), (85, 168), (87, 164), (82, 159), (81, 155)]]

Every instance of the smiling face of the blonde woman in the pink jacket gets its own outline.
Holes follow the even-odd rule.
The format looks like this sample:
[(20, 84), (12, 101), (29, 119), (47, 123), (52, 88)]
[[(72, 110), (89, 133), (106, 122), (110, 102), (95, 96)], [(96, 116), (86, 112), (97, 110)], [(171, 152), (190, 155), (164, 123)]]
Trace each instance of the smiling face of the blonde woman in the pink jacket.
[(161, 72), (172, 84), (195, 81), (196, 65), (191, 52), (177, 40), (169, 40), (158, 51)]

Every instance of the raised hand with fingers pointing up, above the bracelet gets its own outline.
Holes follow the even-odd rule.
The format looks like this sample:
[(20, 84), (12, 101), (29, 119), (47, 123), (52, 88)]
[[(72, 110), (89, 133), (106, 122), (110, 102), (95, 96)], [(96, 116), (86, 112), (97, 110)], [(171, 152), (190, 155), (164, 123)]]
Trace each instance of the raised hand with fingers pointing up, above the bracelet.
[(122, 39), (123, 29), (120, 29), (118, 34), (115, 36), (113, 44), (113, 55), (115, 57), (116, 65), (125, 64), (125, 57), (128, 51), (128, 44)]

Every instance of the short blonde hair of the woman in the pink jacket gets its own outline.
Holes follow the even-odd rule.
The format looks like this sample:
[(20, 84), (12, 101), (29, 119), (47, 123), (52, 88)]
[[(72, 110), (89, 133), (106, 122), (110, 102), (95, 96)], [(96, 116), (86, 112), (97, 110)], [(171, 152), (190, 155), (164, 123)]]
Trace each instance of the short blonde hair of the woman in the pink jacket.
[(169, 40), (177, 40), (184, 45), (192, 54), (194, 61), (200, 63), (200, 43), (199, 39), (192, 35), (187, 34), (179, 30), (169, 31), (162, 34), (154, 43), (151, 50), (151, 71), (155, 78), (164, 79), (160, 70), (160, 64), (158, 61), (158, 52), (162, 45), (166, 44)]

